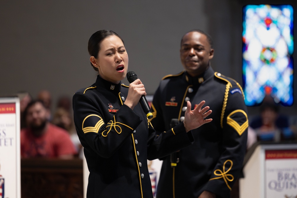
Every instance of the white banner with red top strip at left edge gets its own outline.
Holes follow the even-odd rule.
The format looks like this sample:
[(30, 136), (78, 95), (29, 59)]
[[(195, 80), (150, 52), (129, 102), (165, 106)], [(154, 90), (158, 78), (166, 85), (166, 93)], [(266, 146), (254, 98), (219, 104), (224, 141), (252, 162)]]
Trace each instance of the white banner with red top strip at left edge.
[(0, 198), (20, 197), (20, 105), (0, 98)]

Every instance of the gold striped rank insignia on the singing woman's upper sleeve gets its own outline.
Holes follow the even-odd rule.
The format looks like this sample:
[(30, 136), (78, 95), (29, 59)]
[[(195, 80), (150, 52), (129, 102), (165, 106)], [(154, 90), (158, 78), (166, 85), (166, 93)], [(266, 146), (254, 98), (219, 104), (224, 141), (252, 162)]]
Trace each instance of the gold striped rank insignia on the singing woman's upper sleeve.
[(91, 114), (83, 120), (82, 129), (84, 133), (98, 133), (102, 125), (104, 125), (102, 118), (99, 115)]

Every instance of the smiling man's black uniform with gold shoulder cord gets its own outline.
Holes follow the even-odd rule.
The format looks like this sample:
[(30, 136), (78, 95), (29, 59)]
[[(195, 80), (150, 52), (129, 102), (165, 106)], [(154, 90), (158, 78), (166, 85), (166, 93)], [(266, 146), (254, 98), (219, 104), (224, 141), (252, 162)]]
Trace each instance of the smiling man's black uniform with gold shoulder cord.
[(154, 94), (151, 123), (157, 131), (166, 131), (171, 119), (183, 121), (186, 101), (194, 109), (202, 100), (212, 110), (207, 118), (213, 121), (192, 130), (195, 142), (176, 153), (178, 163), (171, 164), (170, 156), (163, 158), (157, 198), (197, 198), (204, 190), (230, 197), (244, 159), (248, 128), (243, 92), (235, 80), (211, 67), (198, 77), (187, 72), (164, 77)]

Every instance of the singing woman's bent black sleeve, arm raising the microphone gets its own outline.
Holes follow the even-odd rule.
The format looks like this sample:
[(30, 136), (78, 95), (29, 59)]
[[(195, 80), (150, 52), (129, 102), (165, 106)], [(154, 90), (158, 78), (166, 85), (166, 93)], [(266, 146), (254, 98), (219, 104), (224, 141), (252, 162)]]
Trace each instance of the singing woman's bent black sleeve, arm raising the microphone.
[(86, 94), (73, 96), (74, 122), (83, 147), (90, 147), (99, 156), (108, 158), (130, 137), (140, 124), (140, 117), (123, 104), (111, 120)]

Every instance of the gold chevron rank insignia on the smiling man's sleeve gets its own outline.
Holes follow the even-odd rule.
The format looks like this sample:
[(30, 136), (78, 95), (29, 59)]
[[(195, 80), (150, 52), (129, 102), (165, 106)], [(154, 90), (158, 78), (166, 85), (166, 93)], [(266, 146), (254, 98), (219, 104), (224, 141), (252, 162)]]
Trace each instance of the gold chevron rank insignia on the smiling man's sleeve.
[(241, 135), (249, 126), (247, 113), (241, 109), (231, 112), (227, 116), (227, 124), (229, 124), (239, 135)]

